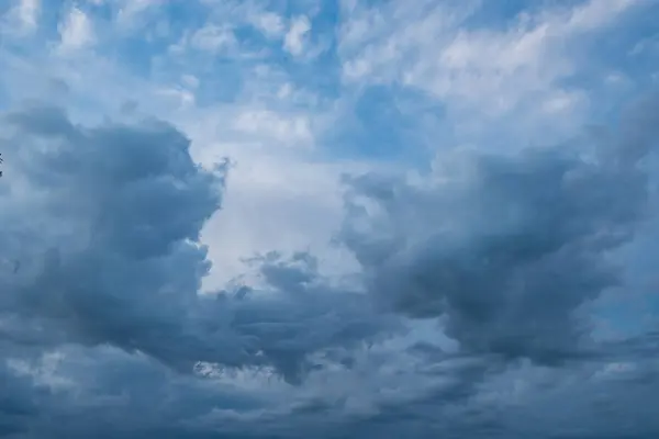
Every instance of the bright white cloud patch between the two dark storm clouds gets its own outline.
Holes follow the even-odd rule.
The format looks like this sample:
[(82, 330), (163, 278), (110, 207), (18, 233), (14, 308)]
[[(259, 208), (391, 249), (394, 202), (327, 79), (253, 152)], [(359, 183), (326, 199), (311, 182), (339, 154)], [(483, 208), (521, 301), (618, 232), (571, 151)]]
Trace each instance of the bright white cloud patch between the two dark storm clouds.
[(245, 273), (242, 258), (271, 249), (313, 250), (322, 255), (322, 268), (333, 272), (355, 268), (330, 241), (340, 224), (342, 173), (370, 166), (309, 157), (316, 140), (312, 115), (245, 103), (181, 117), (200, 162), (211, 166), (224, 156), (235, 162), (223, 209), (203, 230), (214, 264), (204, 289)]

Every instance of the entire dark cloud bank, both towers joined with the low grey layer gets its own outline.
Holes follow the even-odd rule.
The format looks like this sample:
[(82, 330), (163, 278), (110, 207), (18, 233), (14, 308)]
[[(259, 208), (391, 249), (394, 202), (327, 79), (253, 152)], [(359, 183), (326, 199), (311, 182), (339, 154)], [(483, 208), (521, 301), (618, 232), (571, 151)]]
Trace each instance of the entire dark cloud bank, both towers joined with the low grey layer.
[(658, 113), (630, 114), (579, 154), (466, 154), (427, 179), (349, 179), (339, 240), (366, 291), (273, 251), (250, 260), (260, 285), (210, 295), (198, 236), (225, 165), (194, 165), (157, 121), (8, 114), (0, 432), (651, 437), (656, 337), (589, 340), (585, 318), (625, 286), (608, 256), (650, 200)]

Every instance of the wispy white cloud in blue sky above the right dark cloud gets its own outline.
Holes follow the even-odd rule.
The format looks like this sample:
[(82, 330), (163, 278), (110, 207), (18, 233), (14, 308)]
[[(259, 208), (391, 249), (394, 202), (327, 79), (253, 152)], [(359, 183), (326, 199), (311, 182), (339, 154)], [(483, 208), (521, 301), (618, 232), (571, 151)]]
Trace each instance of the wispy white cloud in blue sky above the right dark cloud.
[[(474, 2), (344, 2), (343, 75), (347, 83), (395, 82), (431, 93), (458, 120), (492, 123), (516, 114), (524, 117), (521, 126), (537, 128), (550, 110), (560, 132), (579, 124), (574, 115), (588, 104), (579, 90), (560, 82), (580, 68), (580, 38), (639, 5), (591, 0), (524, 12), (503, 29), (474, 29), (463, 25)], [(535, 108), (545, 110), (537, 114)]]

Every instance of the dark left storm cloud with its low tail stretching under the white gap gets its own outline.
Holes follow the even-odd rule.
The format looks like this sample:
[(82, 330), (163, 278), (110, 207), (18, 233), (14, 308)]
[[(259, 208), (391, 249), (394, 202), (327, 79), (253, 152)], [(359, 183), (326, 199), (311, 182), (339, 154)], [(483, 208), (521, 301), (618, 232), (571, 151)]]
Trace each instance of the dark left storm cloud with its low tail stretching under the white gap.
[(3, 275), (5, 337), (110, 344), (187, 372), (199, 361), (276, 365), (293, 382), (310, 352), (380, 327), (364, 295), (335, 294), (302, 255), (261, 262), (273, 294), (200, 297), (210, 264), (196, 243), (220, 207), (226, 169), (194, 165), (174, 127), (86, 128), (55, 108), (5, 121), (15, 187), (1, 234), (23, 266)]

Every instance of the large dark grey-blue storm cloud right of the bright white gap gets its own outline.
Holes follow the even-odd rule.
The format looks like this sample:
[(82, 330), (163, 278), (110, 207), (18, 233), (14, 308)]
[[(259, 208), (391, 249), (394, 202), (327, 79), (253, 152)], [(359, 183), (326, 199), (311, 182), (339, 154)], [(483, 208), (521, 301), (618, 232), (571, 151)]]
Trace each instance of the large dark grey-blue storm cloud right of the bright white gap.
[(469, 351), (556, 363), (588, 335), (580, 307), (619, 283), (608, 255), (645, 217), (658, 133), (648, 100), (590, 148), (466, 153), (421, 184), (354, 178), (344, 240), (390, 308), (445, 316)]

